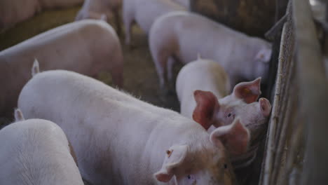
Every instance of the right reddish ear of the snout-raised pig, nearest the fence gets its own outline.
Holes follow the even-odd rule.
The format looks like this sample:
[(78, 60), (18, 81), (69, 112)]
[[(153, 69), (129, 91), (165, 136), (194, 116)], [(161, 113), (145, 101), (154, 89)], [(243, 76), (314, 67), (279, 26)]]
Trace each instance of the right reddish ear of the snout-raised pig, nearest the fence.
[(256, 102), (261, 95), (261, 77), (254, 81), (238, 83), (233, 88), (233, 95), (247, 104)]

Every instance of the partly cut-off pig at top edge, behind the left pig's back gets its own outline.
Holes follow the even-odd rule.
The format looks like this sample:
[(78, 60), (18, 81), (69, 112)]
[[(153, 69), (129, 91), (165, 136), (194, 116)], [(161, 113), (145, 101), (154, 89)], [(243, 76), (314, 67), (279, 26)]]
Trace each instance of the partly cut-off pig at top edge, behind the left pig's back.
[(121, 34), (121, 18), (118, 13), (122, 0), (85, 0), (75, 20), (102, 19), (107, 21), (114, 17), (118, 34)]

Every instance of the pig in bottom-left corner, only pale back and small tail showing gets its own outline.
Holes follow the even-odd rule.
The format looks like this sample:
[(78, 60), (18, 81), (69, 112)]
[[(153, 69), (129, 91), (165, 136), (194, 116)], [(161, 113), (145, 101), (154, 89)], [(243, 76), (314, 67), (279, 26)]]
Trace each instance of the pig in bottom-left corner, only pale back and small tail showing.
[(25, 120), (0, 130), (0, 184), (83, 185), (74, 150), (62, 129), (51, 121)]

